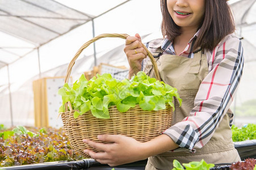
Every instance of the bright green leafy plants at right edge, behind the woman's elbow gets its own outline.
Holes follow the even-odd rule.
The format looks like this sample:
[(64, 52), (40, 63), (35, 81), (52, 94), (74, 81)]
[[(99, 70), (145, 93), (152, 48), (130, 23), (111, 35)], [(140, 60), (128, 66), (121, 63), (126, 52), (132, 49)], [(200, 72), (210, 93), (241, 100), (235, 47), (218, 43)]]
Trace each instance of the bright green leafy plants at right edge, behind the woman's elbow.
[(256, 139), (256, 124), (246, 124), (242, 128), (232, 125), (231, 129), (234, 142)]

